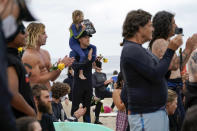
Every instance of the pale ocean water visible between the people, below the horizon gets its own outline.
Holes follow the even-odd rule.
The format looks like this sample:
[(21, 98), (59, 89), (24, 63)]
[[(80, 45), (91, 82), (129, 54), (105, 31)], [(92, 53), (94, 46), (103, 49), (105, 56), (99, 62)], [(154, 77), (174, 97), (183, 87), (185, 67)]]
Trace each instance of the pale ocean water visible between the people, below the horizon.
[[(117, 70), (118, 72), (120, 71), (120, 56), (105, 56), (105, 58), (108, 59), (108, 62), (102, 62), (102, 72), (107, 74), (107, 78), (110, 78), (114, 70)], [(52, 58), (52, 64), (57, 62), (57, 60), (57, 58)], [(92, 72), (94, 72), (94, 69)], [(67, 68), (61, 72), (56, 81), (62, 82), (65, 78), (67, 78)]]

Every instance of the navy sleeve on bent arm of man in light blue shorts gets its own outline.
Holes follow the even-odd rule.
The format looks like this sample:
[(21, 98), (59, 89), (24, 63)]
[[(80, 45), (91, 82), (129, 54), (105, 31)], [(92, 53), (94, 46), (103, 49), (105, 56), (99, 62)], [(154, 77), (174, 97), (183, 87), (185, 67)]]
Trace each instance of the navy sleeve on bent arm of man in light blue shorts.
[(127, 59), (126, 61), (132, 65), (132, 68), (143, 77), (152, 82), (158, 82), (166, 75), (174, 52), (175, 51), (171, 49), (167, 49), (163, 58), (158, 63), (154, 63), (148, 59), (150, 55), (138, 48), (133, 48), (132, 52), (126, 49), (125, 54), (127, 54), (127, 56), (125, 56), (125, 58)]

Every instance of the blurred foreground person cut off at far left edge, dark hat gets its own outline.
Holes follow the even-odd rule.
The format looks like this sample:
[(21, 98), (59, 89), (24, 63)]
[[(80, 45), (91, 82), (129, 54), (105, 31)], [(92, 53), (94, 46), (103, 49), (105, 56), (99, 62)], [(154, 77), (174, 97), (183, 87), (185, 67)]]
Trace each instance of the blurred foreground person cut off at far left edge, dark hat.
[(7, 40), (11, 40), (17, 29), (17, 21), (34, 21), (25, 0), (0, 0), (0, 127), (1, 130), (15, 131), (15, 118), (10, 101), (13, 94), (7, 84)]

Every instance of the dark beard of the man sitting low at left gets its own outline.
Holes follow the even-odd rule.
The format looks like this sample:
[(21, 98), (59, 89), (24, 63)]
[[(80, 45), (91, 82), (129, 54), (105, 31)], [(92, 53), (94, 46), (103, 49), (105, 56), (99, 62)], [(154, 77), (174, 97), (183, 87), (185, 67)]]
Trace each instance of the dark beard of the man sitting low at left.
[(38, 111), (42, 113), (52, 114), (52, 106), (51, 103), (44, 103), (42, 100), (38, 101)]

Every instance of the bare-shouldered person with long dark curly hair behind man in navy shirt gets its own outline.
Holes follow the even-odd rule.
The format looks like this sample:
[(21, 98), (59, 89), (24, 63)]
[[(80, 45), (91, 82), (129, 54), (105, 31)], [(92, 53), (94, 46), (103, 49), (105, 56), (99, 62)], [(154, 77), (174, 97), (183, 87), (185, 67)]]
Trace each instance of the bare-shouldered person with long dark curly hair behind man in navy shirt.
[[(156, 13), (153, 18), (153, 39), (149, 44), (149, 48), (152, 50), (152, 53), (161, 59), (167, 49), (168, 44), (171, 42), (170, 38), (175, 35), (175, 29), (177, 25), (175, 23), (174, 14), (167, 11), (160, 11)], [(185, 110), (183, 107), (183, 102), (181, 98), (181, 88), (182, 88), (182, 79), (181, 79), (181, 70), (186, 65), (192, 51), (196, 48), (195, 43), (197, 43), (196, 35), (193, 35), (186, 42), (186, 48), (182, 53), (182, 58), (178, 57), (176, 54), (173, 57), (173, 60), (170, 64), (169, 71), (166, 74), (168, 80), (168, 88), (177, 92), (178, 94), (178, 108), (174, 115), (170, 116), (170, 127), (175, 126), (180, 130)], [(179, 118), (177, 120), (177, 118)], [(176, 124), (172, 124), (176, 123)]]

